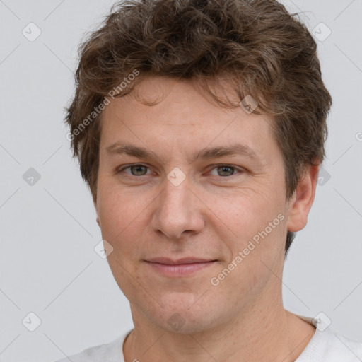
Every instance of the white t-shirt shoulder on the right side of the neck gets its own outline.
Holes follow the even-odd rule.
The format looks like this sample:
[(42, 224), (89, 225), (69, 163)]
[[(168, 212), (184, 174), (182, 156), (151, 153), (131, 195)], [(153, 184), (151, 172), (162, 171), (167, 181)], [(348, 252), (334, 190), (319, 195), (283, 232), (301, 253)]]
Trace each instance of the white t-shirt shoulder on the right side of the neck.
[(362, 342), (352, 341), (329, 329), (315, 335), (296, 362), (361, 362)]

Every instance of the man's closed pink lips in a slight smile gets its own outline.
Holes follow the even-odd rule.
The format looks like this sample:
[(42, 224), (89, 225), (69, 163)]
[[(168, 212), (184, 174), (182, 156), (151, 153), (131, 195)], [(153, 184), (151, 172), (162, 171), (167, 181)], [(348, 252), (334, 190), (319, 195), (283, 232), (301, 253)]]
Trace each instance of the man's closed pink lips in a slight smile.
[(217, 260), (199, 259), (199, 258), (182, 258), (182, 259), (169, 259), (165, 257), (154, 258), (145, 260), (145, 262), (163, 276), (182, 277), (194, 274), (197, 271), (210, 267), (215, 264)]

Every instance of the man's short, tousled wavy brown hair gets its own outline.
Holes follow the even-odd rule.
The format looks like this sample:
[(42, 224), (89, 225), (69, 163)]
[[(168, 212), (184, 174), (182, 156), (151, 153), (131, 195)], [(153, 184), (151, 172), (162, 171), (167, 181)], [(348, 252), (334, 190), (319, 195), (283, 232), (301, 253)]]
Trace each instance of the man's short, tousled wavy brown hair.
[[(252, 95), (257, 110), (274, 116), (289, 199), (305, 167), (325, 156), (332, 105), (315, 40), (296, 17), (275, 0), (125, 0), (112, 6), (79, 47), (76, 92), (66, 108), (71, 147), (93, 199), (99, 105), (112, 89), (119, 97), (128, 94), (146, 75), (209, 81), (221, 74), (230, 75), (239, 100)], [(135, 70), (141, 76), (119, 87)], [(208, 91), (219, 105), (238, 107)], [(288, 231), (286, 252), (293, 236)]]

